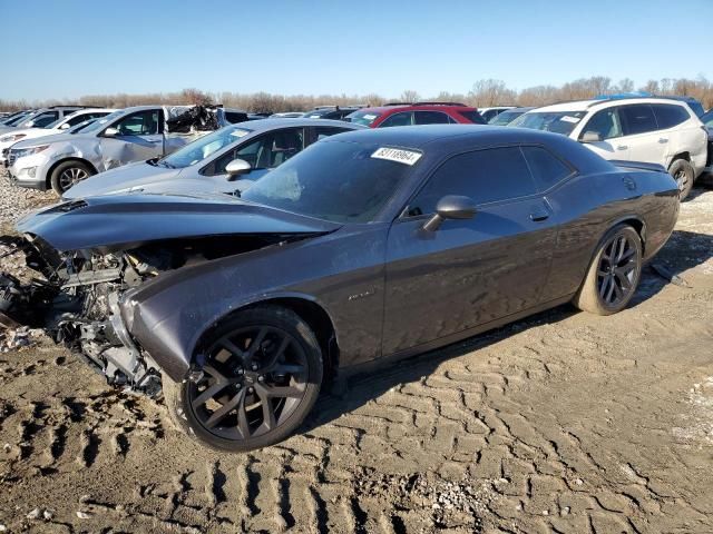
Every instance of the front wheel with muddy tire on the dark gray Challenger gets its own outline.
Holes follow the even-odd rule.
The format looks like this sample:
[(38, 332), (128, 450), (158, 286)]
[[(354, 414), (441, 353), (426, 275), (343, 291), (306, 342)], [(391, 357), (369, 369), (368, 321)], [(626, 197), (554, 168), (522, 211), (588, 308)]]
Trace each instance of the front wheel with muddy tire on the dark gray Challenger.
[(320, 344), (294, 312), (241, 312), (205, 343), (203, 375), (174, 383), (164, 397), (176, 426), (203, 445), (247, 452), (289, 437), (310, 413), (323, 376)]

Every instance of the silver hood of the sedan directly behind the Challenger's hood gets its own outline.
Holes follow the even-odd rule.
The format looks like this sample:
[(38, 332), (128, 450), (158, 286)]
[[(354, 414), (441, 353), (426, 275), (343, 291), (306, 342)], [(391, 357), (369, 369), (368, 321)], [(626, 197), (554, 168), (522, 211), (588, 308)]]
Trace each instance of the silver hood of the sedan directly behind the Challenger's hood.
[[(173, 179), (180, 175), (182, 170), (183, 169), (156, 167), (145, 161), (136, 161), (91, 176), (65, 191), (62, 198), (75, 199), (110, 192), (114, 194), (117, 191), (128, 192), (131, 188), (154, 184), (162, 186), (170, 185)], [(141, 189), (145, 188), (141, 187)], [(199, 192), (201, 189), (197, 189), (197, 191)], [(154, 191), (152, 190), (150, 192)]]

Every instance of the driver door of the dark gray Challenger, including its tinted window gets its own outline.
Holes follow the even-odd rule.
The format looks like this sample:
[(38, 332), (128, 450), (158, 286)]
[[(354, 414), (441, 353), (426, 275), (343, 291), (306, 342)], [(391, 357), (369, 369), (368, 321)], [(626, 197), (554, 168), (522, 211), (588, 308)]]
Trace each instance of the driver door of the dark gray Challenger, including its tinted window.
[[(471, 219), (423, 224), (446, 195)], [(540, 303), (557, 236), (519, 147), (453, 156), (397, 219), (387, 244), (384, 356), (465, 333)]]

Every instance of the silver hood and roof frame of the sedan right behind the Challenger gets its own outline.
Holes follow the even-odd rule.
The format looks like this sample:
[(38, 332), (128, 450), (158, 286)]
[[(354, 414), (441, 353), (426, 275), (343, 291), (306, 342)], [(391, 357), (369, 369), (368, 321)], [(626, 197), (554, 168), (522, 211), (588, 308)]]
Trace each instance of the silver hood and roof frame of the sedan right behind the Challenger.
[[(340, 120), (324, 119), (263, 119), (250, 122), (240, 122), (227, 128), (247, 130), (248, 134), (236, 139), (235, 142), (216, 150), (214, 154), (195, 165), (182, 169), (166, 169), (141, 161), (107, 172), (92, 176), (68, 189), (62, 198), (82, 198), (94, 195), (108, 195), (125, 192), (131, 189), (140, 189), (145, 192), (233, 192), (244, 190), (264, 175), (267, 169), (253, 170), (242, 180), (229, 181), (227, 175), (206, 176), (201, 171), (212, 161), (242, 146), (255, 141), (263, 135), (283, 129), (331, 127), (346, 130), (359, 130), (365, 127), (350, 125)], [(305, 136), (305, 142), (309, 136)], [(305, 147), (306, 148), (306, 147)]]

